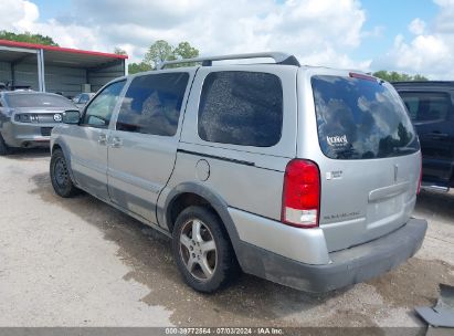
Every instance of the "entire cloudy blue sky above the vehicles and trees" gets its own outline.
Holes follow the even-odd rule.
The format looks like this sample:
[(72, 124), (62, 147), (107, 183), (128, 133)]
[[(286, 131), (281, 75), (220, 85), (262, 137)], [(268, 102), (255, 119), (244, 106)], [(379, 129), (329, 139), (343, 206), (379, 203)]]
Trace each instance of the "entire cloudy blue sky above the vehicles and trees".
[(306, 64), (454, 77), (454, 0), (2, 0), (0, 12), (0, 29), (119, 46), (134, 62), (163, 39), (202, 54), (282, 50)]

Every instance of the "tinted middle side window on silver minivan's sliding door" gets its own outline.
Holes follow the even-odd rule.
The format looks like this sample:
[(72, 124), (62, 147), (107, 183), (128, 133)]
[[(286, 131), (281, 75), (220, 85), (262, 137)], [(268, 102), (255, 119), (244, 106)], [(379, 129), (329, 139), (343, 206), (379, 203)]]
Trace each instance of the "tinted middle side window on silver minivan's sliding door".
[(177, 133), (189, 74), (141, 75), (133, 80), (117, 119), (117, 130), (159, 136)]

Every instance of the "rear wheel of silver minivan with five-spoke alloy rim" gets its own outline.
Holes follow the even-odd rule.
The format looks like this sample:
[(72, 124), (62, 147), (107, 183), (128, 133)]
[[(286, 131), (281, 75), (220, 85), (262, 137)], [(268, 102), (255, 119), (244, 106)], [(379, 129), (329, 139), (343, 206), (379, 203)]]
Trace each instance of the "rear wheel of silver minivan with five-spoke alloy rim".
[(237, 277), (240, 266), (229, 235), (210, 209), (184, 209), (177, 218), (172, 238), (178, 270), (196, 291), (212, 293)]

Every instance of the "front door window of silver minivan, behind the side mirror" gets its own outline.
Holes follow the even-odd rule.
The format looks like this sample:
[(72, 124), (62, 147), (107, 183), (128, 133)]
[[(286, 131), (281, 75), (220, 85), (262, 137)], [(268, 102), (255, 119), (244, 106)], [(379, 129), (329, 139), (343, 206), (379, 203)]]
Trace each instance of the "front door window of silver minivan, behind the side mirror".
[(107, 127), (126, 81), (106, 86), (87, 106), (82, 125)]

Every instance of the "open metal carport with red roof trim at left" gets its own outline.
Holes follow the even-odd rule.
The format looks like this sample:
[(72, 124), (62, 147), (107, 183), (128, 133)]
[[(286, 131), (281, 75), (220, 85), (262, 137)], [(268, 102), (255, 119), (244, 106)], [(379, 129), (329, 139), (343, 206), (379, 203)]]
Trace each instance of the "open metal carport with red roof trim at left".
[(0, 40), (0, 82), (60, 92), (96, 92), (127, 74), (127, 55)]

